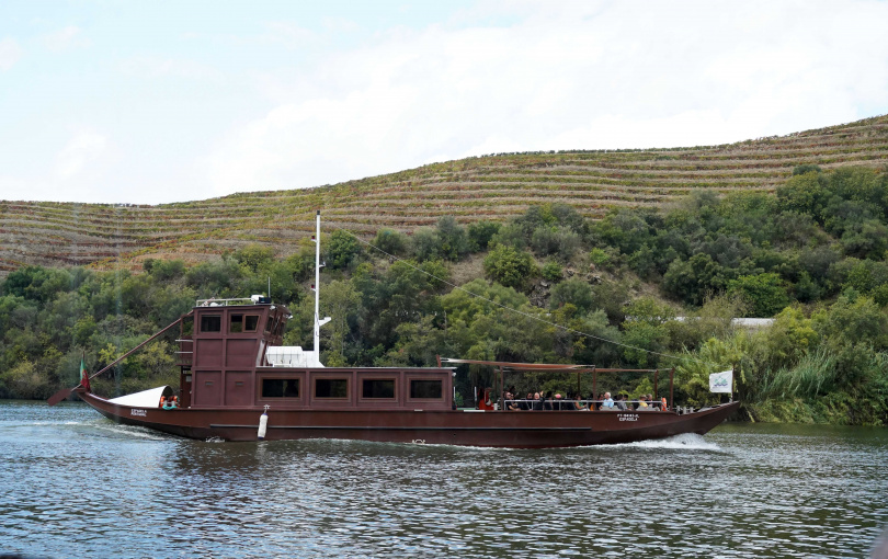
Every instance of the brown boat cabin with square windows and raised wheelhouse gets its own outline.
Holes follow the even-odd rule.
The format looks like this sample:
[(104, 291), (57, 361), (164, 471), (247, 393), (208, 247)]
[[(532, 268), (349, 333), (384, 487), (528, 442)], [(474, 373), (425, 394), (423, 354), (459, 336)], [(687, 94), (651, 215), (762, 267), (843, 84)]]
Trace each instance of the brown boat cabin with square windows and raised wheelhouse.
[(198, 300), (182, 320), (181, 404), (192, 409), (453, 409), (453, 368), (323, 367), (282, 346), (289, 310), (271, 300)]

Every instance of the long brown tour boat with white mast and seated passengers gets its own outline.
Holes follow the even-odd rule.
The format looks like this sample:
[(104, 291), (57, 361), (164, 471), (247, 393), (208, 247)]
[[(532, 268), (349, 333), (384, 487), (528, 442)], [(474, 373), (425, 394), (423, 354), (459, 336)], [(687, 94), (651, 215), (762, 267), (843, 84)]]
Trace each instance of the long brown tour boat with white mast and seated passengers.
[[(316, 242), (319, 239), (320, 215)], [(513, 411), (502, 403), (506, 374), (576, 374), (579, 387), (582, 375), (592, 375), (596, 383), (600, 373), (617, 369), (465, 360), (439, 360), (437, 367), (325, 367), (319, 338), (329, 318), (321, 320), (318, 311), (319, 271), (320, 249), (316, 247), (311, 351), (282, 346), (292, 315), (267, 297), (198, 300), (190, 312), (123, 356), (178, 326), (181, 374), (175, 403), (171, 403), (174, 392), (169, 386), (113, 399), (96, 396), (89, 378), (114, 363), (92, 377), (83, 374), (77, 388), (62, 390), (49, 403), (73, 391), (115, 422), (198, 440), (348, 438), (512, 448), (704, 434), (739, 407), (732, 401), (703, 409), (675, 408), (671, 372), (670, 400), (663, 409), (604, 411), (593, 404), (590, 411)], [(442, 366), (445, 363), (453, 366)], [(498, 390), (482, 389), (480, 401), (470, 409), (456, 406), (455, 369), (464, 363), (491, 366), (499, 379)], [(659, 372), (651, 373), (656, 393)]]

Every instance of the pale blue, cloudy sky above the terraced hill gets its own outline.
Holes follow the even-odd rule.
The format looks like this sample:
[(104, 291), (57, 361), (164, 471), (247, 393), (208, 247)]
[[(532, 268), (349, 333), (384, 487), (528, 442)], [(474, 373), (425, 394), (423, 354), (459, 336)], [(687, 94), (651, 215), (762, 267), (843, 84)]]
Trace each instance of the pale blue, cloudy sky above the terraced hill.
[(0, 199), (162, 204), (888, 113), (888, 1), (0, 2)]

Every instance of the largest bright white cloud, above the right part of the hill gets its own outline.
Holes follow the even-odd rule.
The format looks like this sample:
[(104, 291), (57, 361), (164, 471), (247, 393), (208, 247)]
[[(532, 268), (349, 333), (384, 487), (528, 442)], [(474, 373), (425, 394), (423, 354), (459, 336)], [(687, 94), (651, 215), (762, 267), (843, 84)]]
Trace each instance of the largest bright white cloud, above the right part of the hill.
[(862, 100), (888, 98), (888, 4), (846, 5), (526, 3), (509, 26), (397, 28), (321, 58), (288, 89), (267, 79), (278, 106), (204, 162), (226, 193), (435, 157), (718, 144), (849, 122), (869, 116), (855, 112)]

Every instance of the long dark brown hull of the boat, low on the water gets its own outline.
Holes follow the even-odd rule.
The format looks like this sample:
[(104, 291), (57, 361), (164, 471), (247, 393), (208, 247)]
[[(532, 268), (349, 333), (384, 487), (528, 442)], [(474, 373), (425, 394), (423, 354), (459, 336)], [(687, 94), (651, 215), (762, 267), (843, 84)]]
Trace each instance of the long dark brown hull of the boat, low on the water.
[[(261, 409), (179, 409), (117, 406), (89, 392), (80, 398), (117, 423), (189, 438), (257, 441)], [(631, 443), (704, 434), (739, 407), (694, 413), (661, 411), (269, 410), (265, 440), (346, 438), (386, 443), (544, 448)]]

